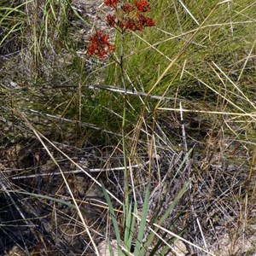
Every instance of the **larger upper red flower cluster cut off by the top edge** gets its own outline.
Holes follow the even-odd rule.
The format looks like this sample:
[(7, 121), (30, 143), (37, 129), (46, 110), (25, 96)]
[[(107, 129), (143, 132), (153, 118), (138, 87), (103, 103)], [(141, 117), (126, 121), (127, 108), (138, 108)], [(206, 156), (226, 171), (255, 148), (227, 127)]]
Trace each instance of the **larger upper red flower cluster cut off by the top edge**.
[(154, 20), (142, 14), (150, 11), (148, 0), (137, 0), (134, 6), (124, 3), (120, 9), (117, 9), (118, 0), (105, 0), (104, 3), (115, 9), (115, 15), (107, 15), (108, 26), (130, 31), (143, 31), (145, 26), (154, 26)]

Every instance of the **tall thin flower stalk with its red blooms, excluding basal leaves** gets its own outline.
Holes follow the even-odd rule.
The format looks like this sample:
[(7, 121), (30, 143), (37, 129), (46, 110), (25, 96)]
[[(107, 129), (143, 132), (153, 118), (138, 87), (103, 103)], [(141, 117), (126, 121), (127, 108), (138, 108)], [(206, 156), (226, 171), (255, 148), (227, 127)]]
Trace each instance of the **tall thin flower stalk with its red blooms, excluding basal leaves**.
[[(106, 15), (106, 22), (108, 26), (115, 28), (120, 33), (120, 52), (119, 60), (114, 60), (117, 62), (120, 68), (120, 79), (121, 84), (125, 90), (123, 97), (123, 115), (122, 115), (122, 144), (123, 144), (123, 154), (124, 154), (124, 166), (125, 166), (125, 195), (124, 195), (124, 212), (125, 218), (123, 225), (125, 226), (125, 219), (129, 217), (129, 172), (127, 167), (127, 149), (125, 141), (125, 119), (127, 110), (127, 85), (125, 82), (125, 35), (127, 32), (140, 31), (143, 32), (145, 27), (154, 26), (154, 20), (147, 15), (150, 11), (150, 6), (148, 0), (137, 0), (133, 3), (127, 3), (127, 1), (120, 0), (105, 0), (105, 5), (113, 10), (112, 14)], [(89, 39), (89, 46), (87, 48), (87, 55), (96, 55), (100, 59), (104, 59), (113, 53), (115, 49), (114, 45), (109, 42), (108, 34), (102, 30), (96, 30), (94, 34)], [(131, 212), (130, 212), (131, 214)]]

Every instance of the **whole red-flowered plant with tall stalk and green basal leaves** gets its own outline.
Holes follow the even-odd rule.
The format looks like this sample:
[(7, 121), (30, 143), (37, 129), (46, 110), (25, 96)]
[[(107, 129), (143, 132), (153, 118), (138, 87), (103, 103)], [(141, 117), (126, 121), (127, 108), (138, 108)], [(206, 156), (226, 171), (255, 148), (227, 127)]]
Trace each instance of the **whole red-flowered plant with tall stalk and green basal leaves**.
[[(125, 33), (126, 32), (134, 32), (134, 31), (143, 31), (146, 26), (154, 26), (154, 20), (150, 17), (146, 16), (145, 13), (150, 11), (150, 6), (148, 0), (131, 0), (132, 3), (128, 3), (128, 0), (104, 0), (106, 6), (109, 9), (112, 9), (111, 14), (106, 15), (106, 22), (108, 26), (115, 28), (120, 33), (120, 51), (119, 57), (113, 58), (115, 64), (118, 67), (118, 73), (120, 76), (117, 79), (117, 83), (119, 82), (124, 87), (124, 96), (123, 98), (123, 115), (122, 115), (122, 125), (121, 125), (121, 134), (122, 134), (122, 151), (124, 154), (124, 219), (122, 220), (123, 227), (122, 230), (125, 230), (125, 247), (127, 249), (126, 252), (130, 252), (131, 250), (131, 241), (133, 238), (133, 230), (135, 230), (135, 217), (131, 212), (131, 202), (130, 202), (130, 189), (129, 189), (129, 175), (130, 172), (128, 171), (127, 165), (127, 143), (126, 143), (126, 135), (125, 135), (125, 120), (126, 120), (126, 109), (127, 109), (127, 88), (130, 84), (126, 83), (126, 72), (125, 72), (125, 64), (124, 64), (124, 45), (125, 45)], [(94, 32), (93, 35), (90, 36), (90, 44), (87, 49), (87, 55), (97, 55), (99, 58), (103, 59), (108, 56), (114, 50), (114, 45), (109, 42), (108, 34), (103, 32), (102, 30), (97, 30)], [(102, 184), (102, 188), (104, 185)], [(108, 197), (107, 190), (103, 189), (106, 199), (108, 201), (109, 211), (111, 212), (111, 216), (113, 219), (113, 226), (116, 237), (117, 243), (119, 247), (118, 254), (122, 254), (120, 247), (121, 247), (121, 240), (119, 235), (119, 227), (117, 221), (115, 219), (115, 213), (113, 212), (113, 206), (111, 201)], [(149, 189), (148, 194), (149, 195)], [(148, 198), (148, 196), (146, 196)], [(145, 207), (148, 207), (148, 201), (146, 201)], [(137, 212), (137, 208), (135, 206), (134, 212)], [(145, 212), (145, 217), (147, 215), (147, 211)], [(146, 222), (144, 222), (146, 224)], [(133, 225), (133, 226), (132, 226)], [(143, 230), (145, 226), (140, 227), (140, 231), (138, 232), (137, 241), (143, 241)], [(141, 247), (141, 243), (137, 242), (136, 248), (137, 253), (135, 255), (140, 254), (139, 248)], [(145, 255), (142, 253), (141, 255)]]

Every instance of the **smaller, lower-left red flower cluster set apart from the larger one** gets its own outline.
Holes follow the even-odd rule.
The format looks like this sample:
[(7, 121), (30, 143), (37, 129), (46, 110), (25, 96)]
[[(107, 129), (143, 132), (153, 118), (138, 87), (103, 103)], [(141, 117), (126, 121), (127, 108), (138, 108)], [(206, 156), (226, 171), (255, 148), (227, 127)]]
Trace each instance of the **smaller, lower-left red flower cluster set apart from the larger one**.
[(114, 45), (108, 42), (108, 34), (105, 34), (102, 30), (96, 31), (90, 37), (90, 44), (87, 49), (88, 55), (98, 55), (100, 59), (103, 59), (113, 50)]

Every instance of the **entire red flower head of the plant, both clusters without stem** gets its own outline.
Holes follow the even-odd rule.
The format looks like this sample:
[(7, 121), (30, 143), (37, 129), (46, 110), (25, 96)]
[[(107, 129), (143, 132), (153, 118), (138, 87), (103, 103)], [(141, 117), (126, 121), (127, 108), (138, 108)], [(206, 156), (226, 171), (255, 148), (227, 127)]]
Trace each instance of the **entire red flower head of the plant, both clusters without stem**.
[[(105, 5), (113, 9), (113, 15), (107, 15), (108, 26), (118, 29), (122, 34), (125, 31), (143, 31), (146, 26), (154, 26), (154, 20), (144, 13), (150, 11), (148, 0), (137, 0), (133, 4), (122, 3), (119, 0), (105, 0)], [(102, 30), (90, 36), (87, 55), (97, 55), (103, 59), (113, 52), (114, 45), (109, 43), (108, 34)]]

